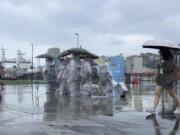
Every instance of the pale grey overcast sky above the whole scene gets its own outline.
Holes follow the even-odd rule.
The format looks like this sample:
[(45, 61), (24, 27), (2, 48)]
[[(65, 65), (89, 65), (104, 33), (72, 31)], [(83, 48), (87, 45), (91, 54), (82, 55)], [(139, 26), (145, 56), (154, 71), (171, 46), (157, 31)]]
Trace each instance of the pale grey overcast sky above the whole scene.
[(0, 42), (6, 57), (80, 45), (98, 55), (125, 56), (150, 39), (180, 43), (180, 0), (0, 0)]

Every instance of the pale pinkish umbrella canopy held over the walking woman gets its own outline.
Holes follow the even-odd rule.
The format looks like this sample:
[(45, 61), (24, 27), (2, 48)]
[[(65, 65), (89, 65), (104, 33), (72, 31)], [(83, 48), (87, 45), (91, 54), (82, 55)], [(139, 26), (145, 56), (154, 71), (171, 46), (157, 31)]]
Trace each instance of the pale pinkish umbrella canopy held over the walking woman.
[(169, 48), (174, 50), (180, 50), (179, 45), (170, 41), (163, 41), (163, 40), (148, 40), (143, 44), (143, 48), (154, 48), (154, 49)]

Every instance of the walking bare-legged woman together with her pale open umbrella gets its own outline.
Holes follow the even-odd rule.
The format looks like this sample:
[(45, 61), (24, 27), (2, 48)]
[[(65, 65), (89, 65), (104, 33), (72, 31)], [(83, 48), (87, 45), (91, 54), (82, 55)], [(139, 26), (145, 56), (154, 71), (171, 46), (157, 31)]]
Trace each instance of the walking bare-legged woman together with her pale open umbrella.
[(179, 99), (174, 92), (174, 60), (170, 49), (179, 49), (180, 47), (174, 43), (168, 41), (147, 41), (143, 45), (144, 48), (155, 48), (160, 50), (160, 61), (157, 65), (157, 72), (155, 75), (156, 95), (154, 98), (153, 108), (147, 109), (147, 112), (151, 114), (156, 114), (156, 107), (159, 103), (159, 99), (162, 90), (168, 91), (169, 95), (173, 98), (176, 104), (176, 110), (174, 113), (180, 113), (180, 103)]

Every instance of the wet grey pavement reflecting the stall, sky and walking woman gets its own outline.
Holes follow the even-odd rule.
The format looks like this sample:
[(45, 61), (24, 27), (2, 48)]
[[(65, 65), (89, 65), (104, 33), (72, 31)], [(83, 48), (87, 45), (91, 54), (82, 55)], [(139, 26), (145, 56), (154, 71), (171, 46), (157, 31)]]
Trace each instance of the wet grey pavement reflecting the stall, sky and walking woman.
[[(179, 116), (164, 92), (156, 116), (155, 85), (130, 86), (126, 98), (60, 97), (46, 85), (4, 86), (0, 91), (2, 135), (180, 135)], [(179, 88), (176, 88), (180, 96)]]

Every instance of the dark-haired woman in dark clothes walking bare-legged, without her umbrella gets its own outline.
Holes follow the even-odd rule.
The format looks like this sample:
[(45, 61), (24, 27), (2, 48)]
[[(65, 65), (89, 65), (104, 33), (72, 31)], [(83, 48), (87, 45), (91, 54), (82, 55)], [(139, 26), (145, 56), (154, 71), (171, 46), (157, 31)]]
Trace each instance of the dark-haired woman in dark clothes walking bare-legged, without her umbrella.
[(159, 99), (162, 90), (168, 91), (169, 95), (173, 98), (176, 104), (176, 110), (174, 113), (180, 113), (179, 99), (174, 92), (174, 60), (171, 51), (167, 48), (160, 49), (160, 61), (157, 65), (157, 72), (155, 75), (155, 82), (157, 83), (154, 105), (153, 108), (147, 109), (146, 111), (151, 114), (156, 114), (156, 107), (159, 104)]

